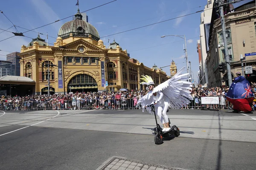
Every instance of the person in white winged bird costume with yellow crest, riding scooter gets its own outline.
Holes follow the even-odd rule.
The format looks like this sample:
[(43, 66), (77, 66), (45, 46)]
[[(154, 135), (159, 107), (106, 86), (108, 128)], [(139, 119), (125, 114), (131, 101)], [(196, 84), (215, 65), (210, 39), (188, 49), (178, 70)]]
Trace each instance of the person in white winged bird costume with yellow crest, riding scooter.
[[(171, 128), (169, 127), (169, 120), (166, 112), (169, 108), (179, 109), (183, 105), (188, 105), (189, 99), (192, 99), (191, 92), (192, 83), (187, 82), (186, 80), (189, 78), (182, 78), (187, 76), (187, 74), (180, 74), (185, 67), (181, 68), (180, 71), (175, 74), (174, 77), (167, 80), (166, 82), (161, 83), (157, 87), (154, 87), (154, 81), (150, 76), (142, 76), (141, 82), (142, 85), (148, 86), (148, 94), (143, 96), (137, 102), (137, 106), (141, 105), (142, 111), (144, 112), (145, 108), (151, 114), (150, 108), (147, 108), (146, 105), (151, 105), (154, 103), (155, 111), (160, 121), (163, 123), (163, 132), (169, 131)], [(183, 81), (185, 80), (185, 81)]]

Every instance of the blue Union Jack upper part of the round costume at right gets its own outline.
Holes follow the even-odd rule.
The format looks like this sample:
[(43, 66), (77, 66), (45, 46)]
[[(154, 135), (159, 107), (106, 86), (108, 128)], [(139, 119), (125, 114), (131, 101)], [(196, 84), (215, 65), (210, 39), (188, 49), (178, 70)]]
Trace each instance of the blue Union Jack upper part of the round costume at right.
[(234, 82), (231, 84), (226, 96), (230, 99), (254, 98), (250, 83), (243, 76), (239, 76), (234, 79)]

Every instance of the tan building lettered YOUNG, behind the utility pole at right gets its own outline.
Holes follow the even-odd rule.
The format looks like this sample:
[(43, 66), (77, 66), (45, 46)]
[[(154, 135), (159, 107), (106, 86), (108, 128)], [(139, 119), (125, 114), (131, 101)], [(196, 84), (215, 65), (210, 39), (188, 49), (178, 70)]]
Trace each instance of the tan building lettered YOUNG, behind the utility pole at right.
[[(217, 14), (212, 20), (212, 35), (209, 39), (209, 53), (207, 55), (207, 70), (209, 71), (210, 86), (228, 86), (227, 70), (224, 73), (219, 71), (219, 65), (225, 63), (225, 51), (221, 28), (221, 20)], [(226, 23), (226, 37), (228, 55), (230, 56), (230, 66), (232, 78), (239, 71), (243, 74), (240, 58), (244, 65), (251, 65), (253, 74), (247, 79), (256, 82), (256, 8), (255, 1), (239, 6), (224, 15)], [(246, 63), (245, 63), (246, 62)]]

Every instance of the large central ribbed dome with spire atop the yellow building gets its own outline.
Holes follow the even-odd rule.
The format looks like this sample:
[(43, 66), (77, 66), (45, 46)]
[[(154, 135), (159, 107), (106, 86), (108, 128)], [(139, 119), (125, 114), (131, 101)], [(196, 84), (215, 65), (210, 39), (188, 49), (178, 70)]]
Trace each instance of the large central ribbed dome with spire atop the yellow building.
[(70, 33), (72, 33), (73, 37), (91, 37), (93, 40), (99, 40), (99, 32), (97, 29), (91, 24), (87, 23), (85, 20), (82, 20), (82, 15), (80, 14), (79, 9), (75, 15), (76, 19), (72, 21), (68, 21), (64, 23), (59, 32), (58, 37), (62, 39), (70, 37)]

